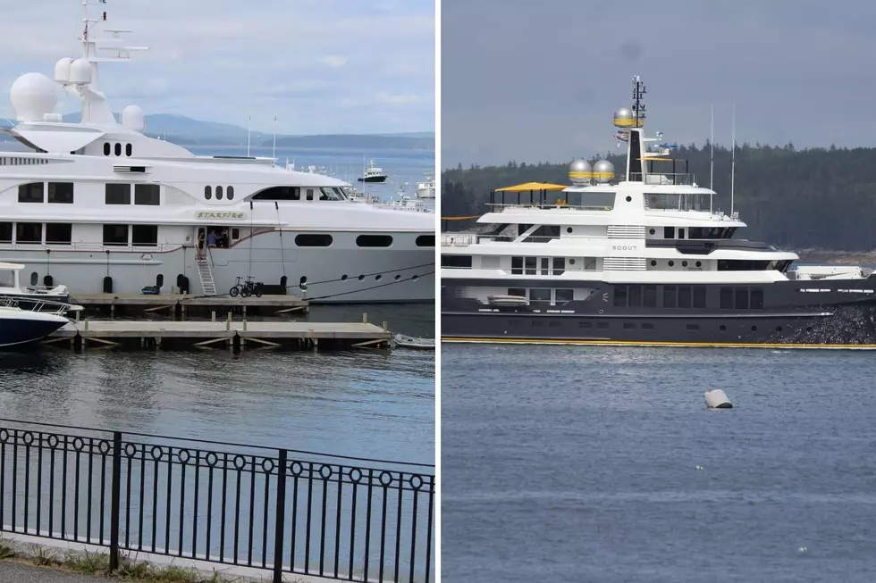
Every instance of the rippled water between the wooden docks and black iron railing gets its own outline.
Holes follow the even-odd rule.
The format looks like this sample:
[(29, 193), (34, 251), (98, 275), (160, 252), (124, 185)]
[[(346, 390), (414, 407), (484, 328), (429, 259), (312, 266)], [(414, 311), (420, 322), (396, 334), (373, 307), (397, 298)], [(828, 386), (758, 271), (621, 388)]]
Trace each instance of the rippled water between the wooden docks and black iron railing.
[[(310, 317), (361, 321), (365, 310), (400, 332), (434, 329), (431, 304)], [(430, 463), (434, 367), (434, 353), (401, 349), (0, 353), (0, 417)]]

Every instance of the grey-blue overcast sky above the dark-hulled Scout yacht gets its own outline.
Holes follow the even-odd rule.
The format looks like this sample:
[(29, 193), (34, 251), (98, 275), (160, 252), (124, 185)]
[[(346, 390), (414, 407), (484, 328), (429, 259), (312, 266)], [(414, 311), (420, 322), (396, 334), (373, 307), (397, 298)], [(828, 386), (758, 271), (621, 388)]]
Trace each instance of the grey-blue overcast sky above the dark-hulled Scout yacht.
[(612, 113), (648, 89), (668, 141), (873, 146), (876, 3), (442, 0), (442, 166), (615, 149)]

